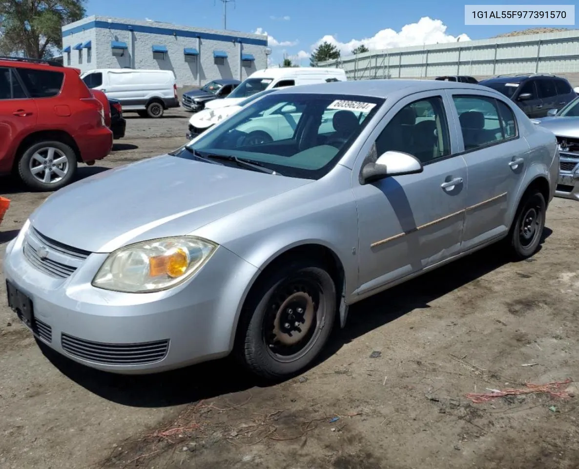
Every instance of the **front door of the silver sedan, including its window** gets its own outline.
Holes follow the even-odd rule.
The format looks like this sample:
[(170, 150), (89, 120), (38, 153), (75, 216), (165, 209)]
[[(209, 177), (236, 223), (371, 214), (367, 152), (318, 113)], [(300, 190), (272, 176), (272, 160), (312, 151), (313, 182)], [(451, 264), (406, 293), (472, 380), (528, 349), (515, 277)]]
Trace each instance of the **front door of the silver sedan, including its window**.
[(415, 94), (397, 103), (369, 137), (376, 157), (403, 151), (420, 159), (424, 170), (364, 185), (353, 180), (359, 295), (460, 252), (467, 168), (460, 155), (453, 155), (448, 106), (443, 94)]

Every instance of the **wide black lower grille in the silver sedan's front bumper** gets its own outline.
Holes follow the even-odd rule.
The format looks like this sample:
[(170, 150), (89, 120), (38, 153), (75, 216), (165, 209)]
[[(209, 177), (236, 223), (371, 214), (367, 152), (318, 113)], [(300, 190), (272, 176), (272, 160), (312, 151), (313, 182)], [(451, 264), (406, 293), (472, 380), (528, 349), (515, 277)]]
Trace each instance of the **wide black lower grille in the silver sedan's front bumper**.
[(103, 344), (63, 333), (63, 350), (73, 357), (103, 365), (145, 365), (161, 361), (167, 355), (169, 341), (140, 344)]

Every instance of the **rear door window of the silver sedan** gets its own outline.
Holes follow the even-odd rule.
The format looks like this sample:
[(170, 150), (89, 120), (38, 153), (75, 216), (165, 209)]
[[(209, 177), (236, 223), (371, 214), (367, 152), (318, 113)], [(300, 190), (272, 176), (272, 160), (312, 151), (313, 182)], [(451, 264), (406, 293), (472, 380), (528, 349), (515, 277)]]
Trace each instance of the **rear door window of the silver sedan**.
[[(459, 114), (466, 151), (505, 140), (503, 119), (507, 119), (507, 122), (512, 121), (514, 125), (514, 116), (507, 113), (510, 112), (508, 108), (504, 111), (504, 116), (499, 114), (496, 99), (483, 96), (453, 96), (453, 101)], [(508, 132), (512, 133), (512, 129), (508, 129)]]

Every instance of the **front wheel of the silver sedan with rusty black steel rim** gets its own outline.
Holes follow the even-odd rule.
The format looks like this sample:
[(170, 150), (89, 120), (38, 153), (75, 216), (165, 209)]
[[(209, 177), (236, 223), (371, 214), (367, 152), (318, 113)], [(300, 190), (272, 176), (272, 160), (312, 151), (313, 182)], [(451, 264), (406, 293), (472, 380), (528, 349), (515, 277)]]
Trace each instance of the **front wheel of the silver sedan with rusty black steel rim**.
[(318, 263), (296, 260), (248, 297), (238, 357), (255, 375), (283, 379), (310, 365), (334, 326), (336, 288)]

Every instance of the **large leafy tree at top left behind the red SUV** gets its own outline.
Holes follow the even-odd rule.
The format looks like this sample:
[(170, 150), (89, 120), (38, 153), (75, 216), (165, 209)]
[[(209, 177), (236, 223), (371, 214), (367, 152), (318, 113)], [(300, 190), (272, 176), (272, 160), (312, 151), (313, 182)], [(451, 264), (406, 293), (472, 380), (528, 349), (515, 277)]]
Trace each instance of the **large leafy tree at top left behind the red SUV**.
[(86, 0), (0, 0), (0, 53), (45, 59), (62, 48), (61, 28), (85, 16)]

